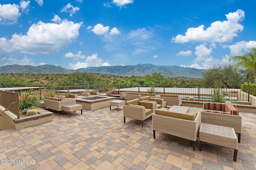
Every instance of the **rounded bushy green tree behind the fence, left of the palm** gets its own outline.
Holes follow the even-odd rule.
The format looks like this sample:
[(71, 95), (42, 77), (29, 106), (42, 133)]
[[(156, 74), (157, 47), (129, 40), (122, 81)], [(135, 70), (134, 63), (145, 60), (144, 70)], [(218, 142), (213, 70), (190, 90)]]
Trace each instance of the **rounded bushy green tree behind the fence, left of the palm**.
[(242, 82), (242, 75), (231, 64), (214, 65), (202, 72), (201, 84), (236, 85)]

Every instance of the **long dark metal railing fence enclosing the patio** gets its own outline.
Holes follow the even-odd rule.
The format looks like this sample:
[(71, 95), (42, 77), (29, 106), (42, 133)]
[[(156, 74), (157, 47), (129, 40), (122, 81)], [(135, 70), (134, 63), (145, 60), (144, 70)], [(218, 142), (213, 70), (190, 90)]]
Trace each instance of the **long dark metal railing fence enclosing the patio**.
[[(156, 93), (156, 94), (172, 94), (185, 97), (194, 98), (210, 98), (214, 93), (214, 89), (220, 89), (227, 98), (233, 100), (242, 100), (250, 102), (250, 85), (86, 85), (86, 86), (61, 86), (61, 87), (31, 87), (31, 88), (7, 88), (5, 91), (13, 92), (18, 95), (17, 98), (22, 98), (22, 95), (31, 93), (31, 96), (39, 96), (40, 99), (44, 99), (45, 96), (49, 96), (52, 93), (71, 92), (73, 94), (81, 95), (82, 92), (93, 90), (99, 93), (105, 93), (111, 90), (125, 90), (127, 92), (139, 92), (139, 93)], [(241, 90), (244, 89), (244, 92)], [(3, 90), (3, 89), (2, 89)], [(2, 91), (0, 90), (0, 91)], [(0, 105), (8, 107), (11, 103), (16, 101), (16, 97), (6, 97), (5, 93), (0, 94)], [(8, 94), (9, 96), (9, 94)], [(11, 99), (12, 98), (12, 99)], [(10, 101), (9, 101), (10, 100)], [(11, 102), (12, 101), (12, 102)], [(6, 102), (6, 104), (4, 103)], [(14, 114), (18, 114), (17, 108), (19, 104), (15, 105), (15, 109), (12, 111)], [(11, 107), (9, 109), (12, 110)]]

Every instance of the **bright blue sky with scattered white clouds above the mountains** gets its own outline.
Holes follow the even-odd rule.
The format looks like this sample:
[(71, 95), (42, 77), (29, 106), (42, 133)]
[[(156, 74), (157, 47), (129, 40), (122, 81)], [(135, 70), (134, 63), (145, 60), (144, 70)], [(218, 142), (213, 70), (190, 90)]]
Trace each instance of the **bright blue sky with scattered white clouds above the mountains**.
[(1, 0), (0, 66), (207, 69), (256, 47), (255, 0)]

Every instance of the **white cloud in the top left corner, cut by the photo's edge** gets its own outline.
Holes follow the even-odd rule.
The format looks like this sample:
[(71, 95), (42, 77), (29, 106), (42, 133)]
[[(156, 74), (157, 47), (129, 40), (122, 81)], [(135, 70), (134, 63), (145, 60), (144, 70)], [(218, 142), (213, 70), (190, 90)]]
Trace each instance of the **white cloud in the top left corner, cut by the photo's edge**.
[(15, 24), (20, 17), (19, 6), (16, 4), (0, 4), (0, 24)]

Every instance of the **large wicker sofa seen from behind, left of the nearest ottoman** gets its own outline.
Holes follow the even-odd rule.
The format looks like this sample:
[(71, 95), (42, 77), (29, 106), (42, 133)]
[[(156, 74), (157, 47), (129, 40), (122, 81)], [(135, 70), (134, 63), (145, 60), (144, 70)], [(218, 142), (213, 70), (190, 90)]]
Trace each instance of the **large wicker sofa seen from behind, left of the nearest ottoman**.
[(156, 131), (167, 133), (193, 141), (195, 151), (196, 139), (199, 133), (200, 112), (180, 113), (166, 109), (156, 109), (152, 114), (153, 138)]

